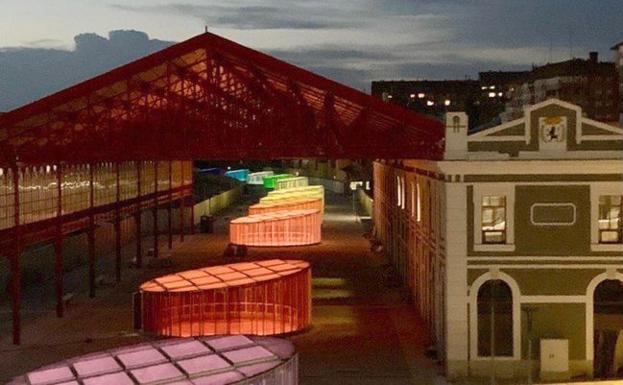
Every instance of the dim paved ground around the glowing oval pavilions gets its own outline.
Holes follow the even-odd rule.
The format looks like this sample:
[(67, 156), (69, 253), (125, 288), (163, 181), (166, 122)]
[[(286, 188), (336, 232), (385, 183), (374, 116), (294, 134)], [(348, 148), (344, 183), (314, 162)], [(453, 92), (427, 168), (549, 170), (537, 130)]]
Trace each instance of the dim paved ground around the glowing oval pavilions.
[[(427, 344), (423, 323), (403, 293), (384, 282), (385, 261), (369, 251), (350, 200), (329, 195), (327, 203), (322, 244), (255, 248), (248, 255), (249, 259), (303, 258), (312, 262), (313, 327), (290, 336), (300, 353), (301, 384), (443, 383), (439, 367), (423, 355)], [(44, 312), (26, 309), (20, 347), (10, 344), (8, 328), (0, 328), (0, 383), (63, 358), (143, 340), (145, 337), (131, 330), (130, 293), (140, 282), (167, 272), (224, 262), (227, 219), (244, 212), (241, 205), (224, 213), (216, 234), (195, 235), (183, 244), (176, 243), (171, 268), (125, 270), (123, 282), (100, 289), (98, 298), (79, 294), (63, 319), (55, 317), (49, 300), (26, 301), (38, 302)], [(133, 250), (133, 246), (126, 250), (128, 261)], [(78, 281), (75, 285), (81, 287), (82, 273), (74, 272), (68, 279)], [(26, 296), (39, 298), (42, 291), (45, 289), (29, 290)], [(6, 305), (0, 307), (0, 311), (6, 310)]]

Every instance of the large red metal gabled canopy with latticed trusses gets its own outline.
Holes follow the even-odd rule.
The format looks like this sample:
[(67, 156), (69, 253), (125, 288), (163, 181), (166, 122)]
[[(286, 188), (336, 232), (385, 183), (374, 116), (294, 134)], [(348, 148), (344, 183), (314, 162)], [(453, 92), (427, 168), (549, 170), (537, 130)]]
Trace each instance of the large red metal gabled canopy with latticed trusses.
[(204, 33), (0, 116), (0, 166), (428, 158), (441, 124)]

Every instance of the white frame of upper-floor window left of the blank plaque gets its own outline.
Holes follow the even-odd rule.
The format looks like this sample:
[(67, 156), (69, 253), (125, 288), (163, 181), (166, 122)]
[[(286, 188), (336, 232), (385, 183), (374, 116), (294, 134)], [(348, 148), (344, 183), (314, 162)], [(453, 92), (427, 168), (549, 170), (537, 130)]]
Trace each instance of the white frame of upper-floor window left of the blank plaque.
[[(506, 197), (506, 243), (483, 243), (482, 197)], [(512, 183), (480, 183), (474, 185), (474, 251), (515, 251), (515, 185)]]

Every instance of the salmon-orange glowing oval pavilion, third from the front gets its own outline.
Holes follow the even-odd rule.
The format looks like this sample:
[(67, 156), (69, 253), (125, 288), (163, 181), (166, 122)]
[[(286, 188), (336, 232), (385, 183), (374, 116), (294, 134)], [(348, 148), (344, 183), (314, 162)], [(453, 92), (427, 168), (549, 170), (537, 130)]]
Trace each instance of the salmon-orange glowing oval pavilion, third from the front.
[(284, 210), (229, 222), (229, 239), (246, 246), (302, 246), (320, 243), (319, 210)]

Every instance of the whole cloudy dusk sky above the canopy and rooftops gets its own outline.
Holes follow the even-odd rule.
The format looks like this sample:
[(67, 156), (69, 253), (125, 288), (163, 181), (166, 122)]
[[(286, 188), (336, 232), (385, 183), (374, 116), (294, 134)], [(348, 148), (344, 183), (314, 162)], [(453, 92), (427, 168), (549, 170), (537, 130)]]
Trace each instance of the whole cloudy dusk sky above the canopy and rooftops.
[[(0, 0), (0, 111), (210, 32), (369, 92), (623, 41), (623, 0)], [(112, 31), (112, 32), (111, 32)]]

